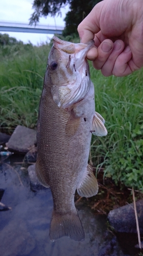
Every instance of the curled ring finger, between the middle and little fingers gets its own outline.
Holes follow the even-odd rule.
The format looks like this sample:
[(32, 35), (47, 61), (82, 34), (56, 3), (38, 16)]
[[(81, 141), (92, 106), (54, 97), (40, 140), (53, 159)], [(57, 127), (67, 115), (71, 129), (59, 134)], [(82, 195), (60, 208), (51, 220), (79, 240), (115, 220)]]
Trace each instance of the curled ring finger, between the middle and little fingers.
[(116, 40), (114, 42), (113, 50), (101, 69), (101, 72), (104, 76), (112, 75), (112, 70), (115, 65), (115, 61), (117, 57), (121, 54), (121, 52), (124, 50), (124, 47), (125, 45), (122, 40)]

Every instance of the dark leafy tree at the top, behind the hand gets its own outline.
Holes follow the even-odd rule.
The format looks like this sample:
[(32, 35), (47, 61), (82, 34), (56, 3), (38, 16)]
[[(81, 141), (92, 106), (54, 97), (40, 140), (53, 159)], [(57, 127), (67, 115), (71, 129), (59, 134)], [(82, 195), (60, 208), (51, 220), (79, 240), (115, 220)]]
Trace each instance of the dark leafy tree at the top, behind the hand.
[(62, 15), (61, 8), (70, 5), (70, 11), (65, 17), (66, 27), (63, 35), (77, 34), (77, 26), (82, 19), (87, 16), (92, 8), (102, 0), (34, 0), (33, 9), (34, 13), (30, 18), (30, 24), (37, 24), (39, 18), (42, 16), (55, 16), (56, 14)]

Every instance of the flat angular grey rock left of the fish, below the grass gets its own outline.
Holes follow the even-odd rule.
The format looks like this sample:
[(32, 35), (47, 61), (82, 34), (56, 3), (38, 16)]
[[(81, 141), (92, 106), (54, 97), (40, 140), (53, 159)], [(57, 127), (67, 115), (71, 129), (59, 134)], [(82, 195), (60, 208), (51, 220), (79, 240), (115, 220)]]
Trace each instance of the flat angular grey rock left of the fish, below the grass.
[(17, 125), (6, 145), (10, 151), (26, 154), (35, 143), (36, 131)]

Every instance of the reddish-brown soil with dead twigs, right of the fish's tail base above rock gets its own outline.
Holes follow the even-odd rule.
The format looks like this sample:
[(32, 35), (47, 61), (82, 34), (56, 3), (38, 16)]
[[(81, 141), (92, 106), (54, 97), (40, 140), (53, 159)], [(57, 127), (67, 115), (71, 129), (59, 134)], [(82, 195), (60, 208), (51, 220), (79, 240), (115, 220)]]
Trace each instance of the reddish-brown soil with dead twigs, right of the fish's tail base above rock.
[[(76, 193), (75, 204), (81, 201), (91, 207), (95, 214), (108, 215), (110, 210), (133, 202), (131, 188), (121, 186), (121, 184), (117, 186), (111, 178), (103, 179), (103, 172), (98, 174), (97, 181), (98, 194), (92, 198), (82, 198)], [(136, 200), (143, 198), (140, 191), (135, 190), (134, 192)]]

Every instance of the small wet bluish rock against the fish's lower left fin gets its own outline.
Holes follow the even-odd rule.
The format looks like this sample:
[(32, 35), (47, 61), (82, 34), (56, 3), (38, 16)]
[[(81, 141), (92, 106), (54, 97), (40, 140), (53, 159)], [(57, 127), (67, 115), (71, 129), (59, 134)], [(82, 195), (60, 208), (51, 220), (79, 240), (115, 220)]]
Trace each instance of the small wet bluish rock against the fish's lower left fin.
[(35, 164), (28, 166), (27, 171), (28, 171), (28, 175), (29, 175), (30, 181), (31, 181), (31, 190), (37, 191), (37, 190), (45, 188), (44, 186), (41, 185), (41, 183), (39, 182), (39, 180), (36, 176)]

